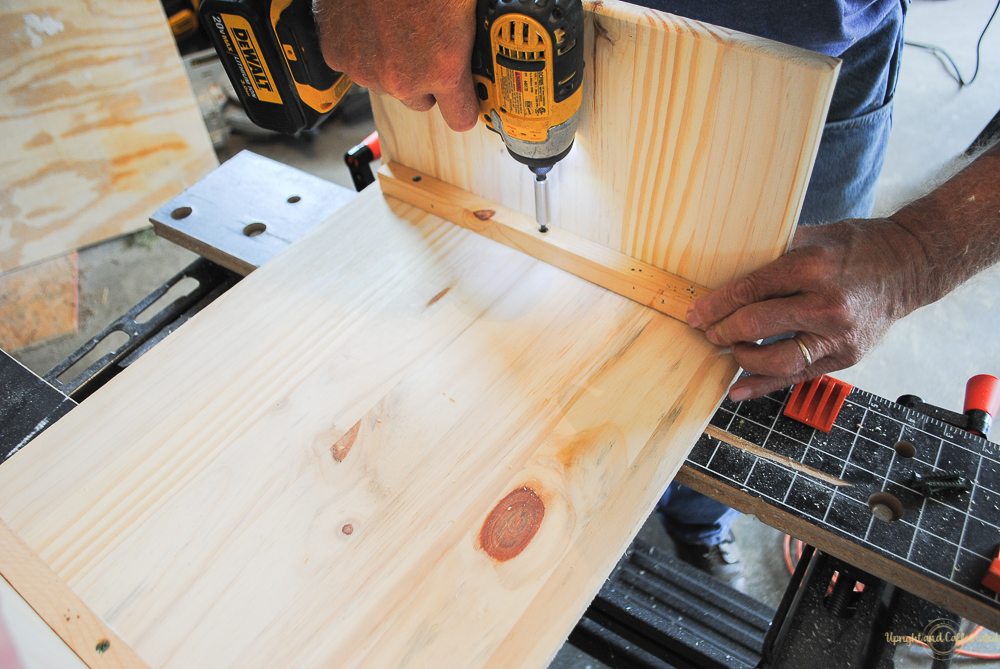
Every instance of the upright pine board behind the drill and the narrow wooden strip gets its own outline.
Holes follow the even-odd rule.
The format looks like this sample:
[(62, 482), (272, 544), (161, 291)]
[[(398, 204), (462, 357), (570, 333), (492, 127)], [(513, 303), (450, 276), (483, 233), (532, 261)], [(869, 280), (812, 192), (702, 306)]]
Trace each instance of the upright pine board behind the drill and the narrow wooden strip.
[[(550, 225), (709, 288), (783, 253), (839, 61), (622, 2), (586, 2), (576, 143)], [(534, 215), (528, 170), (482, 124), (373, 95), (384, 162)]]

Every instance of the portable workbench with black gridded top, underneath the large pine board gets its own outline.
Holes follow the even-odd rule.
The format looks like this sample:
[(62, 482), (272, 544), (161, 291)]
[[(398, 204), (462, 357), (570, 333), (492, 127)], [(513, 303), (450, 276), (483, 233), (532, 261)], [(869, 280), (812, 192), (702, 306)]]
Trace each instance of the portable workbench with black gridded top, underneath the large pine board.
[[(255, 197), (263, 192), (265, 184), (277, 192), (294, 191), (301, 202), (268, 205)], [(212, 270), (214, 274), (206, 274), (204, 269), (194, 270), (200, 277), (199, 289), (154, 317), (154, 325), (167, 331), (162, 335), (149, 334), (148, 339), (165, 336), (189, 317), (185, 312), (204, 306), (206, 299), (210, 301), (224, 292), (239, 275), (267, 262), (305, 234), (321, 218), (319, 212), (328, 213), (331, 207), (341, 206), (352, 196), (338, 186), (244, 152), (164, 205), (152, 217), (157, 233), (226, 269)], [(253, 218), (267, 221), (269, 234), (248, 232), (246, 221), (251, 212)], [(137, 305), (110, 329), (131, 327), (134, 317), (166, 292), (169, 285)], [(172, 324), (178, 317), (180, 323)], [(100, 338), (100, 335), (95, 337), (93, 343)], [(144, 344), (143, 348), (130, 341), (95, 368), (127, 366), (152, 343), (155, 341)], [(69, 411), (73, 401), (67, 396), (79, 393), (85, 397), (90, 392), (86, 381), (99, 376), (96, 369), (67, 384), (57, 379), (82, 355), (79, 352), (71, 356), (49, 375), (55, 388), (65, 395), (52, 386), (40, 386), (42, 399), (34, 405), (39, 419), (32, 423), (35, 415), (27, 418), (23, 414), (24, 435), (4, 435), (8, 442), (17, 440), (15, 448), (8, 448), (5, 456), (24, 447), (37, 432)], [(24, 371), (15, 365), (8, 362), (0, 371), (6, 382), (23, 383), (15, 376), (23, 376)], [(106, 376), (107, 372), (102, 374)], [(979, 584), (1000, 544), (1000, 511), (997, 511), (1000, 450), (996, 444), (859, 389), (850, 393), (831, 432), (825, 434), (782, 414), (788, 395), (787, 390), (779, 391), (738, 404), (727, 399), (711, 425), (849, 486), (836, 485), (810, 476), (801, 468), (758, 457), (707, 434), (696, 444), (677, 480), (752, 513), (820, 551), (918, 593), (948, 611), (991, 629), (1000, 627), (997, 595)], [(912, 452), (906, 448), (907, 444), (913, 447)], [(935, 469), (960, 470), (975, 481), (973, 491), (929, 498), (908, 486), (913, 472), (928, 473)], [(869, 500), (876, 493), (890, 494), (898, 500), (902, 509), (898, 520), (885, 522), (872, 515)], [(633, 547), (602, 591), (595, 604), (597, 608), (592, 607), (571, 640), (586, 637), (588, 621), (606, 618), (611, 606), (608, 602), (625, 596), (623, 593), (628, 590), (622, 578), (634, 578), (634, 573), (647, 569), (655, 571), (656, 561), (650, 562), (653, 554), (650, 547)], [(682, 569), (674, 566), (677, 572)], [(630, 573), (632, 577), (628, 576)], [(630, 595), (632, 603), (648, 606), (643, 599), (656, 595), (650, 594), (648, 588), (636, 588)], [(712, 589), (711, 585), (703, 588), (705, 592)], [(726, 596), (735, 597), (732, 593)], [(628, 601), (626, 597), (615, 606), (627, 609)], [(760, 621), (768, 619), (766, 607), (755, 607), (738, 597), (727, 601), (731, 608), (744, 607)], [(675, 603), (674, 607), (677, 606), (680, 605)], [(751, 634), (746, 645), (752, 647), (766, 629), (767, 625), (760, 623), (758, 633)], [(596, 638), (595, 634), (606, 633), (606, 627), (600, 632), (591, 631), (580, 645), (587, 647)], [(753, 651), (748, 653), (742, 659), (725, 653), (717, 659), (730, 666), (752, 666), (755, 656)]]

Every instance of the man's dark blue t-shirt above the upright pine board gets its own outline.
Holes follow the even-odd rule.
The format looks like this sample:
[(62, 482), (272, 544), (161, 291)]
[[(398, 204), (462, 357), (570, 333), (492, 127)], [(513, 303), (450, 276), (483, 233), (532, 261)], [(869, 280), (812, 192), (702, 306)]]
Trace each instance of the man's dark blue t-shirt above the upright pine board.
[(635, 4), (840, 56), (900, 0), (633, 0)]

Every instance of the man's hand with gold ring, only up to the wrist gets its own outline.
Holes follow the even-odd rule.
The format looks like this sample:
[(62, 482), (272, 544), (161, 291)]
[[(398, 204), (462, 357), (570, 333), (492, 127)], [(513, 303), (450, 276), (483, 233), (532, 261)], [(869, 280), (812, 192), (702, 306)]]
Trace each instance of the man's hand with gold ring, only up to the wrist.
[[(921, 305), (915, 284), (923, 264), (916, 237), (892, 220), (800, 228), (787, 255), (695, 300), (687, 319), (713, 344), (732, 346), (754, 374), (735, 383), (730, 397), (760, 397), (858, 362)], [(812, 365), (791, 339), (753, 343), (790, 332)]]

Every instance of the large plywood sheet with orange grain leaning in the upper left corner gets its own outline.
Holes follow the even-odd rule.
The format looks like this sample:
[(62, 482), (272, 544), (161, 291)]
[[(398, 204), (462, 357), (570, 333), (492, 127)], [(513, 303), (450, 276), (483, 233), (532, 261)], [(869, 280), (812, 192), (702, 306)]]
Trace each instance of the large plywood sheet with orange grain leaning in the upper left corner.
[(0, 5), (0, 271), (143, 227), (217, 164), (158, 0)]

